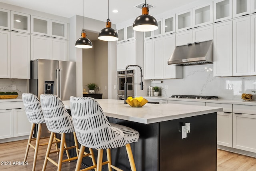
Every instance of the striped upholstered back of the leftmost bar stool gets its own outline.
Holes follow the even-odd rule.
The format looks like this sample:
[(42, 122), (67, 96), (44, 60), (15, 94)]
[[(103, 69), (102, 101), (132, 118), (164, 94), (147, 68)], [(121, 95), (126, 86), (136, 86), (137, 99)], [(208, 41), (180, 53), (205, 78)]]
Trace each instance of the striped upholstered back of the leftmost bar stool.
[(45, 123), (41, 103), (36, 95), (32, 93), (22, 93), (22, 101), (30, 123)]

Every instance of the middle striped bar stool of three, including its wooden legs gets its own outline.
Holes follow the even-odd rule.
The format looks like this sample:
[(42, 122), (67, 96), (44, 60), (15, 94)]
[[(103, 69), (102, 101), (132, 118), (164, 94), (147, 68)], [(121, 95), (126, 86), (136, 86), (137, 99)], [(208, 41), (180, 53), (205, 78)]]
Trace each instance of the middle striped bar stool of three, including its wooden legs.
[[(74, 132), (72, 117), (68, 114), (68, 111), (66, 110), (64, 104), (62, 103), (62, 101), (60, 100), (60, 98), (58, 96), (49, 95), (49, 94), (47, 94), (47, 95), (41, 94), (40, 101), (41, 101), (41, 105), (42, 105), (42, 111), (43, 111), (44, 119), (46, 122), (46, 126), (47, 126), (48, 130), (51, 131), (50, 140), (48, 143), (42, 171), (46, 170), (47, 161), (50, 161), (51, 163), (56, 165), (58, 167), (58, 171), (61, 171), (62, 163), (66, 162), (66, 161), (78, 159), (78, 153), (80, 151), (78, 149), (78, 141), (76, 138), (76, 133)], [(54, 133), (61, 134), (60, 154), (59, 154), (58, 163), (49, 157), (50, 153), (56, 152), (56, 151), (53, 151), (53, 152), (50, 151), (51, 147), (52, 147)], [(74, 146), (64, 148), (66, 133), (73, 133), (74, 142), (75, 142)], [(72, 149), (72, 148), (76, 148), (77, 156), (72, 157), (70, 159), (63, 160), (64, 150), (68, 150), (68, 149)], [(94, 165), (96, 165), (93, 151), (92, 151), (92, 149), (89, 149), (89, 150), (90, 150), (90, 153), (85, 153), (83, 151), (82, 153), (80, 153), (80, 155), (83, 157), (87, 157), (87, 156), (91, 157), (92, 163)]]

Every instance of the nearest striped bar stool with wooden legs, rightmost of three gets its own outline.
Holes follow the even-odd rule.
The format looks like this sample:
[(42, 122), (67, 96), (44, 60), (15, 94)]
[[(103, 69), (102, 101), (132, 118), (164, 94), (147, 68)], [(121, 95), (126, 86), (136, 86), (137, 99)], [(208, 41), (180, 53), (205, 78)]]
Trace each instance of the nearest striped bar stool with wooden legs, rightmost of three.
[[(137, 142), (139, 132), (114, 123), (108, 122), (100, 104), (91, 97), (70, 97), (71, 115), (74, 121), (74, 128), (78, 142), (81, 144), (80, 154), (84, 151), (84, 146), (98, 149), (97, 171), (102, 170), (102, 165), (108, 164), (108, 170), (120, 171), (111, 163), (110, 149), (126, 147), (130, 167), (136, 171), (134, 158), (130, 143)], [(107, 162), (102, 163), (103, 149), (107, 151)], [(79, 171), (82, 163), (82, 155), (78, 156), (76, 171)]]

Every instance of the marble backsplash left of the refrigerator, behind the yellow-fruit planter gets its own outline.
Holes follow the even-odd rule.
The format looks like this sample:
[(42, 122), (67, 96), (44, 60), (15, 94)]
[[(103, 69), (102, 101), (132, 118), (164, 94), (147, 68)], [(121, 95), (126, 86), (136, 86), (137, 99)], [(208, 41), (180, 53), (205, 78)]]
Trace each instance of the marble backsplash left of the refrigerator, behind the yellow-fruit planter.
[[(12, 85), (16, 85), (16, 90), (12, 90)], [(22, 98), (22, 93), (28, 92), (28, 80), (23, 79), (0, 79), (0, 91), (17, 91), (17, 99)]]

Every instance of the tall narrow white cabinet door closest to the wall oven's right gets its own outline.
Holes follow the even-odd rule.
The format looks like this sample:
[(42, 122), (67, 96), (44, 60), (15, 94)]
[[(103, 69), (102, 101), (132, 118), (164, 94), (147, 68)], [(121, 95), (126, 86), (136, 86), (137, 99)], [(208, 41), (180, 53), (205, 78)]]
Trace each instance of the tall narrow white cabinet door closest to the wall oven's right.
[(144, 41), (144, 80), (153, 79), (153, 40)]

